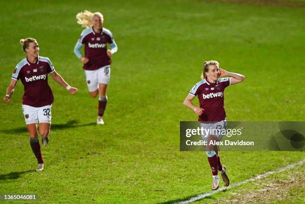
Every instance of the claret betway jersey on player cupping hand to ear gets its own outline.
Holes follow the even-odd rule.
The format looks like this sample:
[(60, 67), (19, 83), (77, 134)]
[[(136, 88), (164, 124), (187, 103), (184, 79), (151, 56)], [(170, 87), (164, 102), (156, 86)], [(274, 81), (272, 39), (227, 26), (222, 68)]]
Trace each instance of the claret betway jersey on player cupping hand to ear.
[(189, 94), (198, 96), (203, 113), (200, 122), (218, 122), (226, 119), (224, 109), (224, 89), (231, 85), (231, 78), (221, 78), (216, 83), (209, 83), (206, 79), (196, 83)]

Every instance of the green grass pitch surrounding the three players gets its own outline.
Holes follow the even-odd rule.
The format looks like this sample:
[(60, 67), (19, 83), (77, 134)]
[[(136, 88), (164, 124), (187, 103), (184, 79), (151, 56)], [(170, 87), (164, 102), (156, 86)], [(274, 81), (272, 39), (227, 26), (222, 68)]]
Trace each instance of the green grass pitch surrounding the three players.
[[(105, 126), (95, 125), (98, 102), (73, 53), (83, 29), (75, 15), (84, 9), (104, 14), (119, 47)], [(226, 89), (229, 121), (304, 121), (304, 18), (304, 6), (203, 0), (2, 1), (2, 97), (25, 57), (19, 44), (25, 37), (38, 40), (40, 55), (79, 92), (71, 96), (49, 77), (55, 101), (39, 173), (33, 171), (20, 81), (11, 102), (0, 103), (0, 193), (36, 194), (43, 204), (169, 204), (210, 191), (205, 154), (179, 152), (179, 121), (196, 120), (182, 103), (200, 80), (203, 61), (216, 59), (246, 76)], [(305, 158), (303, 152), (220, 155), (231, 183)]]

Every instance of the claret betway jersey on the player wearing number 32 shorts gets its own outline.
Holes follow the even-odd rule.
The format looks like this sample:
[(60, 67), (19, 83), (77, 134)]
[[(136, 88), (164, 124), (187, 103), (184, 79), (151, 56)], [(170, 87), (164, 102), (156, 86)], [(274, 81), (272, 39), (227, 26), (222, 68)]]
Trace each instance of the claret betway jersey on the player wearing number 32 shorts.
[(21, 80), (24, 86), (24, 105), (42, 107), (53, 103), (54, 96), (48, 84), (48, 73), (55, 71), (47, 57), (38, 57), (36, 63), (31, 63), (27, 58), (22, 59), (14, 69), (11, 78)]

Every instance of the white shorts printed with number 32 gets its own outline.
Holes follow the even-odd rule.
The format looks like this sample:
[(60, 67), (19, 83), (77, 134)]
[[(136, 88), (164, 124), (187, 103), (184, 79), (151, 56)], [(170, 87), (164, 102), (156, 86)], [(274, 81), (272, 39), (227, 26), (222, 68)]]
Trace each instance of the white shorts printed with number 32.
[(36, 124), (38, 121), (51, 124), (51, 109), (52, 104), (38, 108), (22, 104), (25, 124)]

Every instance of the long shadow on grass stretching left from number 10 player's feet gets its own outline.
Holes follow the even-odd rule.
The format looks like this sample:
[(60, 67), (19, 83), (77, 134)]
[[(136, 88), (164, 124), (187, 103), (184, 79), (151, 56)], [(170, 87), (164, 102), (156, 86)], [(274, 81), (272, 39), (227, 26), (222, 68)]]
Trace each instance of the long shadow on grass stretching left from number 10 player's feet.
[[(96, 125), (96, 123), (78, 124), (77, 120), (70, 120), (65, 124), (52, 124), (51, 130), (62, 130), (62, 129), (77, 128), (77, 127), (84, 127), (90, 125)], [(0, 130), (0, 132), (4, 134), (18, 134), (18, 133), (27, 132), (27, 129), (26, 127), (19, 127), (13, 129)]]

